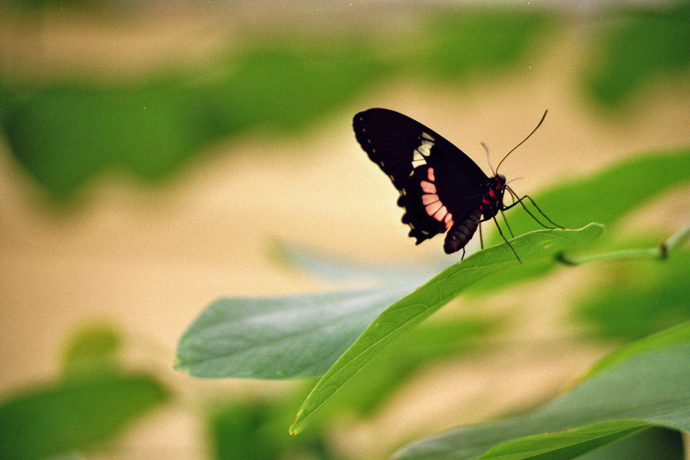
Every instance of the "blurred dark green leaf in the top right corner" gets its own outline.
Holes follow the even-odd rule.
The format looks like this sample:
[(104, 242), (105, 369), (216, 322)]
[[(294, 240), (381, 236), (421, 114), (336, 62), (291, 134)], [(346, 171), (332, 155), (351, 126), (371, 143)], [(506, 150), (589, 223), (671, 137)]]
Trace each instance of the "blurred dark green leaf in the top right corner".
[(596, 64), (585, 77), (592, 97), (609, 106), (629, 99), (654, 77), (689, 77), (690, 2), (629, 10), (604, 22), (607, 29), (592, 47), (599, 55), (589, 59)]

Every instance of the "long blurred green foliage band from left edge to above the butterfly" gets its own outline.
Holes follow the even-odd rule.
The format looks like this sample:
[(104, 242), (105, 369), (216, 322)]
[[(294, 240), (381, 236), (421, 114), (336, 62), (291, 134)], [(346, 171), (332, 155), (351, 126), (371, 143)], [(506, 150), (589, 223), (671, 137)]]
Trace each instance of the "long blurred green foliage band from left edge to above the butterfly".
[(526, 54), (544, 23), (534, 12), (444, 12), (426, 18), (424, 33), (393, 38), (263, 31), (195, 77), (0, 79), (0, 126), (19, 163), (69, 198), (104, 168), (164, 177), (221, 137), (302, 129), (395, 74), (459, 79), (504, 67)]

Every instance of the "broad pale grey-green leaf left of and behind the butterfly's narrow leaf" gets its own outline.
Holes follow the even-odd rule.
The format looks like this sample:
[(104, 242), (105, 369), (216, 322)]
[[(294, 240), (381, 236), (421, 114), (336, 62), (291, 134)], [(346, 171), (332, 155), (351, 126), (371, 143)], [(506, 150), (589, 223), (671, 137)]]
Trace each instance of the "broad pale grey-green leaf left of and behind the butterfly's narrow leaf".
[(182, 335), (175, 368), (203, 378), (321, 376), (409, 289), (219, 299)]

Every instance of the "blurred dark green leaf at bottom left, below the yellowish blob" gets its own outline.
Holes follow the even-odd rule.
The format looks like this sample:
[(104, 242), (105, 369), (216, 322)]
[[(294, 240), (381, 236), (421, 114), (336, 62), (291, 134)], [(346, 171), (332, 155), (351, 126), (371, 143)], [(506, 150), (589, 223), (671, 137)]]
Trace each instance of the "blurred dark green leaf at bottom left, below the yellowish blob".
[(167, 398), (141, 374), (90, 374), (0, 403), (0, 458), (43, 459), (109, 439)]

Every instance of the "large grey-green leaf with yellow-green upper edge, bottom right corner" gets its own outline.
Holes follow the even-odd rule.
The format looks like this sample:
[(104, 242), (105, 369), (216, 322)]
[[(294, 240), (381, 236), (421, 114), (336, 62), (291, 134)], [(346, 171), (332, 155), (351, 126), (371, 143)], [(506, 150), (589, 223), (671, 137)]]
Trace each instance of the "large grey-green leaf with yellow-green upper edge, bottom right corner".
[[(625, 430), (634, 431), (635, 422), (687, 431), (690, 428), (690, 386), (687, 385), (690, 340), (677, 341), (678, 330), (668, 334), (667, 339), (662, 339), (664, 334), (660, 334), (653, 344), (640, 348), (641, 352), (626, 353), (624, 359), (595, 372), (542, 408), (521, 417), (454, 428), (406, 446), (397, 452), (397, 458), (477, 459), (506, 442), (507, 447), (499, 446), (493, 452), (506, 448), (513, 455), (524, 454), (513, 458), (530, 458), (529, 454), (535, 450), (544, 446), (555, 448), (559, 443), (567, 446), (575, 438), (579, 439), (579, 446), (595, 448), (607, 437), (613, 441), (616, 432), (622, 435)], [(578, 427), (586, 428), (574, 432), (576, 437), (559, 433)], [(533, 437), (537, 434), (542, 436)], [(519, 439), (522, 441), (515, 441)]]

